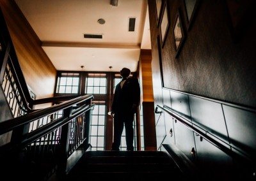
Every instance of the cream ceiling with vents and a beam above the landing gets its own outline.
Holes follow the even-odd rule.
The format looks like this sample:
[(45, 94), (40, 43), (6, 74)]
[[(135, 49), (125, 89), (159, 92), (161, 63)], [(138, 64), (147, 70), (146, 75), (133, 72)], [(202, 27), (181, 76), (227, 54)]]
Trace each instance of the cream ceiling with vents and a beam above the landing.
[[(57, 70), (136, 71), (140, 49), (151, 49), (147, 0), (119, 0), (118, 6), (110, 0), (15, 2)], [(128, 31), (129, 17), (136, 17), (134, 32)], [(85, 33), (102, 39), (84, 38)]]

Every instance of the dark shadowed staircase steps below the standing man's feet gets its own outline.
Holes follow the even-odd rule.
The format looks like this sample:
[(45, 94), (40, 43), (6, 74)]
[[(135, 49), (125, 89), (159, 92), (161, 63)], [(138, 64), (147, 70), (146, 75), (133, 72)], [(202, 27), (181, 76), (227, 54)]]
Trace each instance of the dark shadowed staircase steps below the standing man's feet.
[(65, 180), (182, 180), (182, 173), (166, 152), (90, 151)]

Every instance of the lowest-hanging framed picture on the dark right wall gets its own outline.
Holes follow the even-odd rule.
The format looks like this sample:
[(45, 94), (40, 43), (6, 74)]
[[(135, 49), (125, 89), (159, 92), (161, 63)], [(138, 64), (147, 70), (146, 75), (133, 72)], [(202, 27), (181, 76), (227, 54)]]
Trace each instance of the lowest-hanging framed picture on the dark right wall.
[(180, 11), (178, 10), (173, 24), (173, 37), (174, 37), (174, 47), (176, 50), (175, 58), (179, 56), (180, 49), (184, 43), (185, 34), (182, 25), (182, 20), (180, 18)]

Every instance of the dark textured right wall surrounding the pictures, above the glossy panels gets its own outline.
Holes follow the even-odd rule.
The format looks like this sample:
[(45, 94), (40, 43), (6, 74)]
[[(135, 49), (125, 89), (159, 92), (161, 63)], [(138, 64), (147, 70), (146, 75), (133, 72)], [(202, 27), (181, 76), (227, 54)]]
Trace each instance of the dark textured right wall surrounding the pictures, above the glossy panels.
[(247, 11), (239, 41), (234, 42), (226, 1), (200, 1), (189, 31), (184, 26), (186, 39), (179, 57), (175, 58), (173, 25), (177, 11), (181, 12), (182, 24), (186, 12), (184, 1), (166, 1), (170, 28), (164, 47), (159, 50), (156, 4), (148, 1), (155, 103), (162, 102), (159, 66), (162, 59), (164, 87), (256, 107), (256, 20), (250, 13), (252, 9)]

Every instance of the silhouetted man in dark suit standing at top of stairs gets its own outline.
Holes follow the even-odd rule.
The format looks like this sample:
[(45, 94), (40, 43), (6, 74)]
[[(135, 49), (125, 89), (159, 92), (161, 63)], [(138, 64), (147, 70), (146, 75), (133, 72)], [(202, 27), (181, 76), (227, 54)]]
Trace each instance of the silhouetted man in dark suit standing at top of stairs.
[(130, 69), (120, 71), (122, 81), (116, 85), (111, 115), (114, 117), (114, 141), (112, 150), (119, 150), (121, 136), (125, 126), (125, 140), (127, 150), (133, 147), (133, 119), (140, 104), (140, 85), (137, 78), (129, 78)]

